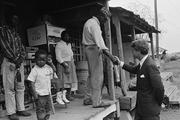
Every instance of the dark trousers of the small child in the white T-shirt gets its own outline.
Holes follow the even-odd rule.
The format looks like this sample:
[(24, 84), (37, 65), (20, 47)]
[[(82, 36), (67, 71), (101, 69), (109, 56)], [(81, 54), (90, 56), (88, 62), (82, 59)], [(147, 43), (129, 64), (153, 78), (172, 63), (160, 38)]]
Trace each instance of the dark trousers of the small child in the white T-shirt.
[(38, 96), (36, 101), (36, 115), (38, 120), (49, 120), (51, 111), (50, 96)]

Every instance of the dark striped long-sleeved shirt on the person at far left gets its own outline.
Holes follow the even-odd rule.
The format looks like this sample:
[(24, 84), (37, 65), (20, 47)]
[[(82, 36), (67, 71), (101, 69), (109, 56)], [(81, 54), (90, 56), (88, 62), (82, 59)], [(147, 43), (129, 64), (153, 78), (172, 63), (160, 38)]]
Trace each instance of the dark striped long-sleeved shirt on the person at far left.
[(0, 27), (0, 51), (3, 57), (15, 63), (19, 57), (25, 58), (25, 49), (18, 33), (7, 26)]

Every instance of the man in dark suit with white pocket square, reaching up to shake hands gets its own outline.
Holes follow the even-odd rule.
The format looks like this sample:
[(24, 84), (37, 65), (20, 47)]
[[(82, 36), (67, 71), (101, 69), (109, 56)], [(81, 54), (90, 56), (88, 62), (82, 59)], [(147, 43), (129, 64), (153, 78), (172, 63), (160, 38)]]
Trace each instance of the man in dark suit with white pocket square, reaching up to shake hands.
[(160, 72), (153, 59), (148, 56), (147, 41), (135, 40), (131, 47), (133, 56), (140, 63), (137, 66), (130, 66), (120, 61), (120, 66), (128, 72), (137, 74), (135, 120), (160, 120), (159, 115), (164, 96)]

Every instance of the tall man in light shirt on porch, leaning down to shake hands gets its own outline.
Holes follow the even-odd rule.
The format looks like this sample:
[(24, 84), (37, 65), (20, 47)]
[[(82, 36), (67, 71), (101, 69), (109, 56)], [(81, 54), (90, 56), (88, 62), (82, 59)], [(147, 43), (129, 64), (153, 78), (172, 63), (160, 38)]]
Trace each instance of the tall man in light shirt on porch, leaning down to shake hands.
[(114, 64), (117, 64), (117, 59), (109, 53), (106, 47), (100, 24), (104, 24), (110, 12), (105, 8), (101, 8), (92, 18), (86, 21), (83, 28), (82, 44), (85, 46), (85, 54), (88, 61), (89, 78), (87, 81), (87, 89), (92, 93), (89, 95), (85, 90), (84, 105), (93, 105), (93, 108), (106, 107), (101, 101), (101, 88), (103, 84), (103, 61), (102, 54), (107, 55)]

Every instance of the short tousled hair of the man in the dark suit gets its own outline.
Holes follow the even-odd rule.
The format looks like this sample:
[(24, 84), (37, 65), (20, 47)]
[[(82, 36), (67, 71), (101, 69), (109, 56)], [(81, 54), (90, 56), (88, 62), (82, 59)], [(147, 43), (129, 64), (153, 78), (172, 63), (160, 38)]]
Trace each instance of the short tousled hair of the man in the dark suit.
[(135, 40), (132, 42), (131, 47), (134, 48), (136, 51), (141, 52), (143, 55), (147, 55), (149, 52), (149, 44), (147, 40)]

